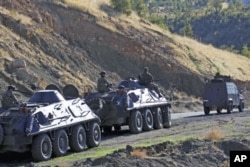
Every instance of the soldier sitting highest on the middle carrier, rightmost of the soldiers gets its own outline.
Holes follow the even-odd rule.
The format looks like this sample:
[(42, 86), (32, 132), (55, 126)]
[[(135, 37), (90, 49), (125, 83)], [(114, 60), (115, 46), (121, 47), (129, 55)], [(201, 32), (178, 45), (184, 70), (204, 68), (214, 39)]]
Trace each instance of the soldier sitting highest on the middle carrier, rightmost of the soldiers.
[(162, 95), (159, 91), (158, 86), (155, 85), (153, 81), (154, 81), (153, 75), (149, 72), (149, 68), (145, 67), (143, 73), (139, 75), (139, 83), (149, 89), (155, 90), (160, 98), (162, 97)]

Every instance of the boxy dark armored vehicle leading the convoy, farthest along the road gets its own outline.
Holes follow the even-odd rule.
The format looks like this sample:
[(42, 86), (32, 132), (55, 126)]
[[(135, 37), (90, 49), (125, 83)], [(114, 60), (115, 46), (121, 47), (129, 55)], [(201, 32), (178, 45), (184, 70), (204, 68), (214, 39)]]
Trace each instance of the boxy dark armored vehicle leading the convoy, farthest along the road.
[(208, 115), (211, 110), (217, 110), (217, 113), (221, 113), (223, 109), (226, 109), (227, 113), (231, 113), (234, 108), (243, 112), (242, 92), (238, 90), (229, 76), (217, 74), (205, 84), (203, 107), (205, 115)]

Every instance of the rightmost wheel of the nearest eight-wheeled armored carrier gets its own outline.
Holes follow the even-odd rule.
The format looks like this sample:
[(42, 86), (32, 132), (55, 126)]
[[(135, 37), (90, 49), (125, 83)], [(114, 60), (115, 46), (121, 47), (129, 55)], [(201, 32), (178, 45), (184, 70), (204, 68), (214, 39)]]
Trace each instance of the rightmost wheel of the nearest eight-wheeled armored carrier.
[(87, 131), (87, 146), (89, 148), (97, 147), (101, 142), (101, 129), (98, 123), (91, 122)]

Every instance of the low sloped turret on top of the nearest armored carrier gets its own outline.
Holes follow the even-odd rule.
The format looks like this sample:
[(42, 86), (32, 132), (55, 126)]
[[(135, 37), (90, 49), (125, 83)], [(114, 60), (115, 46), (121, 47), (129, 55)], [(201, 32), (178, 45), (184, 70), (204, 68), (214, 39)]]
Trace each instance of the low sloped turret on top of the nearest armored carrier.
[(39, 91), (36, 92), (30, 99), (28, 103), (58, 103), (64, 101), (64, 97), (57, 91)]

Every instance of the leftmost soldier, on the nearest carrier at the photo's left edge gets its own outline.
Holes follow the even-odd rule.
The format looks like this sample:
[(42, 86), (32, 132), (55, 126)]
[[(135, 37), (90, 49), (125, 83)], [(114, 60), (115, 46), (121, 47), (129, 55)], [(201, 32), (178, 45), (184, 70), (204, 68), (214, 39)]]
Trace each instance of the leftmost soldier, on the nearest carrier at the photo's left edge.
[(18, 101), (13, 94), (13, 91), (15, 90), (15, 87), (13, 85), (8, 86), (8, 90), (3, 94), (2, 97), (2, 107), (3, 108), (10, 108), (10, 107), (17, 107)]

